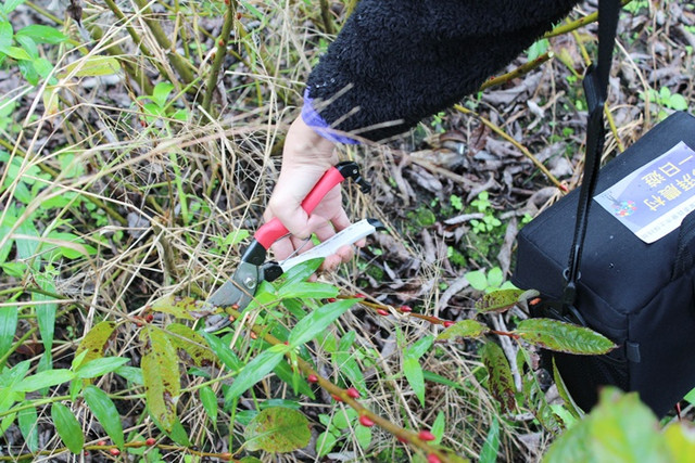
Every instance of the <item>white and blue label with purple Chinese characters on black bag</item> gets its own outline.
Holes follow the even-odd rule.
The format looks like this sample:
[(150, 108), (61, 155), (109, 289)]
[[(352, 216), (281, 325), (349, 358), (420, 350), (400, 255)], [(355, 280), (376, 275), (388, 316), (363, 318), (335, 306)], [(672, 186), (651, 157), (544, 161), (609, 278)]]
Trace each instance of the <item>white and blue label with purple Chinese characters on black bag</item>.
[(642, 241), (654, 243), (695, 210), (695, 151), (680, 142), (594, 200)]

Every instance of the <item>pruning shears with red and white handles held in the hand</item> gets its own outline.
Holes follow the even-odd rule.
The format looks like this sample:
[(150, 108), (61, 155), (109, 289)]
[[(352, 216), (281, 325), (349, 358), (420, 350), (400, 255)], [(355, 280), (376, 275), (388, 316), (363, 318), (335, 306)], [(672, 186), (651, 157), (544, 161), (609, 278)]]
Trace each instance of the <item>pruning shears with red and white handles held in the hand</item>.
[[(353, 179), (364, 193), (371, 190), (369, 183), (359, 175), (359, 169), (355, 163), (339, 163), (324, 173), (302, 202), (302, 208), (306, 214), (311, 215), (324, 196), (333, 187), (348, 178)], [(383, 226), (378, 220), (364, 219), (353, 223), (306, 253), (282, 262), (266, 261), (267, 250), (273, 243), (289, 234), (285, 226), (277, 218), (274, 218), (256, 230), (253, 241), (241, 256), (239, 267), (231, 278), (207, 299), (207, 304), (214, 307), (233, 306), (236, 309), (241, 310), (251, 303), (261, 282), (274, 281), (286, 271), (306, 260), (328, 257), (340, 247), (353, 244), (382, 228)], [(214, 332), (227, 324), (229, 324), (229, 320), (226, 317), (208, 317), (205, 331)]]

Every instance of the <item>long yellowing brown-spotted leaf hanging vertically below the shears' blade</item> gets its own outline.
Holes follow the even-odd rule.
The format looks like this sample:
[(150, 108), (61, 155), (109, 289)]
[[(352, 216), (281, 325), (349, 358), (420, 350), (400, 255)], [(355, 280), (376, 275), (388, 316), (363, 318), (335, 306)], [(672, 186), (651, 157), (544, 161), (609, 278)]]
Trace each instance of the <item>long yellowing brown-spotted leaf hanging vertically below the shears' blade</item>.
[(181, 390), (176, 349), (162, 330), (149, 326), (143, 334), (148, 339), (141, 368), (148, 409), (165, 430), (172, 430)]

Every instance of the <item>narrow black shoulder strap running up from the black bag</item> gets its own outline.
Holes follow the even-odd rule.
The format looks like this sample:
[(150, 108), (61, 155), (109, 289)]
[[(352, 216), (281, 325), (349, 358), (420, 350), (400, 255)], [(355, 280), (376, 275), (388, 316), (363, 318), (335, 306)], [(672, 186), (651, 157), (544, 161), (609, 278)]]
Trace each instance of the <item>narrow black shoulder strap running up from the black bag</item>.
[(604, 106), (608, 95), (608, 76), (612, 63), (612, 50), (618, 27), (620, 0), (598, 0), (598, 60), (596, 65), (586, 69), (583, 86), (589, 107), (586, 124), (586, 155), (584, 157), (584, 179), (579, 192), (577, 206), (577, 223), (574, 239), (570, 250), (569, 262), (565, 270), (565, 290), (563, 292), (563, 312), (574, 304), (577, 281), (580, 278), (579, 266), (582, 246), (586, 235), (586, 223), (596, 182), (601, 155), (604, 149)]

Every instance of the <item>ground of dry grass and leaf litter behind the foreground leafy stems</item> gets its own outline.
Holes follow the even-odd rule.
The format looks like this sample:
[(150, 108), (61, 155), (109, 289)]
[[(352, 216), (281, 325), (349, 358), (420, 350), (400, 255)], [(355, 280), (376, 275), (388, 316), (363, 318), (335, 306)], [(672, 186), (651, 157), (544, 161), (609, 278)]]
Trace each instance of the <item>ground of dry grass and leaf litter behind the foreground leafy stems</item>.
[[(134, 5), (144, 2), (117, 2), (123, 21), (111, 3), (25, 2), (9, 14), (15, 33), (43, 24), (70, 40), (41, 46), (40, 56), (54, 66), (49, 80), (35, 76), (36, 85), (28, 83), (18, 59), (0, 64), (0, 366), (26, 360), (34, 373), (70, 369), (85, 336), (103, 321), (117, 326), (109, 355), (138, 366), (149, 348), (143, 320), (160, 327), (173, 321), (151, 311), (154, 301), (204, 300), (233, 272), (247, 231), (262, 223), (303, 82), (355, 2), (332, 2), (324, 18), (319, 2), (240, 1), (210, 105), (201, 95), (214, 67), (225, 4), (155, 1), (151, 11), (137, 13)], [(567, 22), (594, 10), (583, 3)], [(475, 301), (485, 290), (509, 280), (518, 230), (581, 180), (581, 76), (596, 50), (595, 33), (594, 23), (540, 40), (500, 76), (538, 63), (530, 72), (493, 80), (498, 85), (395, 141), (340, 147), (341, 158), (356, 160), (372, 185), (368, 194), (345, 187), (349, 214), (354, 220), (377, 218), (388, 232), (369, 237), (351, 263), (319, 280), (391, 312), (383, 317), (370, 306), (355, 306), (337, 323), (332, 342), (315, 343), (302, 355), (346, 385), (355, 376), (338, 366), (339, 350), (345, 349), (371, 410), (404, 428), (441, 429), (441, 445), (468, 459), (481, 459), (485, 441), (496, 438), (500, 461), (539, 460), (554, 434), (532, 403), (519, 404), (515, 413), (500, 411), (484, 387), (477, 343), (435, 344), (421, 352), (420, 401), (403, 374), (406, 352), (441, 326), (392, 308), (466, 320), (476, 317)], [(172, 49), (185, 56), (184, 70), (170, 59)], [(693, 113), (694, 54), (691, 2), (633, 0), (624, 8), (610, 79), (607, 157), (673, 111)], [(283, 313), (282, 323), (291, 316)], [(505, 331), (518, 317), (479, 319)], [(236, 350), (244, 361), (262, 349), (248, 333), (237, 325), (225, 338), (245, 337)], [(337, 345), (339, 339), (350, 344)], [(506, 346), (507, 355), (515, 348)], [(109, 372), (94, 381), (116, 403), (127, 442), (157, 439), (147, 451), (129, 448), (132, 461), (211, 461), (226, 452), (264, 461), (424, 461), (382, 428), (370, 428), (368, 438), (355, 432), (356, 415), (326, 390), (308, 399), (274, 376), (240, 398), (236, 410), (220, 399), (213, 425), (210, 407), (195, 393), (211, 378), (203, 370), (181, 370), (178, 416), (192, 451), (162, 437), (144, 411), (137, 376)], [(552, 376), (539, 375), (544, 399), (561, 414)], [(218, 398), (226, 386), (213, 376)], [(100, 443), (104, 427), (78, 401), (72, 407), (85, 449), (93, 447), (79, 456), (63, 448), (48, 404), (68, 400), (73, 389), (65, 382), (28, 393), (16, 402), (30, 412), (20, 411), (17, 421), (14, 401), (5, 407), (0, 400), (0, 461), (115, 459), (109, 442)], [(312, 443), (277, 455), (240, 448), (245, 426), (264, 403), (301, 410), (311, 422)], [(693, 406), (683, 407), (692, 420)], [(337, 417), (341, 413), (348, 417)], [(317, 439), (328, 434), (332, 447), (321, 449)]]

